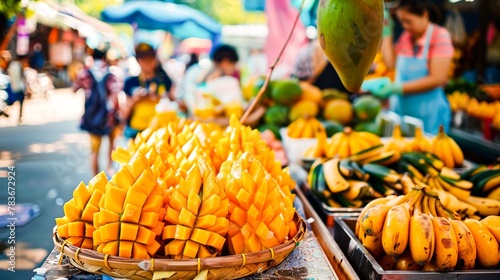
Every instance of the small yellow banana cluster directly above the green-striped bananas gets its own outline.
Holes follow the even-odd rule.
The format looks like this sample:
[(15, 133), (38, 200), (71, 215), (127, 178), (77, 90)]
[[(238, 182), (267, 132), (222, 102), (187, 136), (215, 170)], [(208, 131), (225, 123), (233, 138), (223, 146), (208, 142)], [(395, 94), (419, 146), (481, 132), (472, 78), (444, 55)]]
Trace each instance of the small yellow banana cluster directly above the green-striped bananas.
[(352, 154), (347, 159), (358, 164), (390, 165), (397, 162), (401, 157), (399, 150), (387, 150), (383, 144), (376, 144), (368, 149)]

